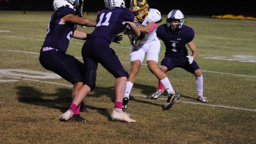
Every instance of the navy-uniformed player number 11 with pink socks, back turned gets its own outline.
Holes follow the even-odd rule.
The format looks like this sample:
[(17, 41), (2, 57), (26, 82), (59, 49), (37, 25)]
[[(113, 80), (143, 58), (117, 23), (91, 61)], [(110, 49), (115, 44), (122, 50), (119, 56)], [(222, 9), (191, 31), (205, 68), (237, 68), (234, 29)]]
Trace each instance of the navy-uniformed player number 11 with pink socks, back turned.
[(133, 13), (125, 8), (124, 0), (104, 0), (104, 2), (106, 9), (99, 13), (95, 30), (82, 47), (82, 58), (86, 69), (83, 74), (83, 86), (75, 95), (70, 109), (60, 117), (60, 120), (67, 121), (73, 116), (79, 115), (78, 106), (86, 95), (95, 88), (98, 63), (101, 63), (116, 78), (115, 106), (111, 118), (125, 122), (136, 122), (122, 111), (122, 100), (128, 72), (124, 70), (118, 56), (110, 48), (110, 43), (119, 33), (125, 30), (127, 24), (136, 36), (140, 35), (140, 31), (133, 23)]

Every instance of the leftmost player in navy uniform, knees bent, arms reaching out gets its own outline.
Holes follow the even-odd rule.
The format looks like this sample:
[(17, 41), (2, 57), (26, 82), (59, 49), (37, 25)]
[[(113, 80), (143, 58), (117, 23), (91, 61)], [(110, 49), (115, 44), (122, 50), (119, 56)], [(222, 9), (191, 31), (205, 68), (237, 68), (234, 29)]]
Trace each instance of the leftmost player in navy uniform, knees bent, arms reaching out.
[[(47, 35), (40, 50), (39, 61), (49, 71), (55, 72), (73, 84), (72, 99), (82, 87), (83, 63), (65, 54), (71, 37), (86, 39), (88, 34), (76, 29), (76, 25), (95, 27), (96, 21), (77, 16), (79, 9), (75, 0), (54, 0), (54, 13), (50, 18)], [(81, 111), (84, 111), (82, 103)]]

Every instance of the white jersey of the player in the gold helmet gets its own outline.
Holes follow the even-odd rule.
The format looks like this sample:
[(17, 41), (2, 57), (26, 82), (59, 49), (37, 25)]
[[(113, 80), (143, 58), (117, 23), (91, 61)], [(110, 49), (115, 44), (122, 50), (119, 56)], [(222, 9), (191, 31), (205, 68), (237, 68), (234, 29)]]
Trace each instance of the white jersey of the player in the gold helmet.
[[(157, 9), (149, 9), (148, 15), (145, 18), (145, 20), (142, 22), (143, 26), (147, 26), (148, 23), (151, 22), (157, 22), (161, 19), (161, 13)], [(145, 38), (143, 40), (138, 41), (138, 45), (144, 45), (145, 43), (150, 43), (153, 41), (156, 37), (156, 28), (149, 34), (146, 34)]]

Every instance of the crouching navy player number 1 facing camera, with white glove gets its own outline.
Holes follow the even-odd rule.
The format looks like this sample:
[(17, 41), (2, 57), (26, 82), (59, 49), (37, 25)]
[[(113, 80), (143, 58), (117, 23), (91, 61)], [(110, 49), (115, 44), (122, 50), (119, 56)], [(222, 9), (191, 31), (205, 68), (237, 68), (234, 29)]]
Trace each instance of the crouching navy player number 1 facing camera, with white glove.
[[(172, 10), (166, 19), (166, 24), (157, 28), (156, 34), (165, 44), (165, 58), (161, 62), (161, 71), (168, 72), (179, 67), (187, 72), (195, 75), (195, 83), (197, 87), (197, 100), (208, 102), (203, 96), (203, 77), (201, 69), (194, 61), (197, 56), (196, 46), (193, 42), (194, 30), (191, 27), (183, 25), (184, 15), (178, 10)], [(192, 55), (188, 54), (185, 45), (188, 45), (192, 51)], [(158, 90), (152, 97), (158, 98), (164, 92), (161, 81), (158, 82)]]

